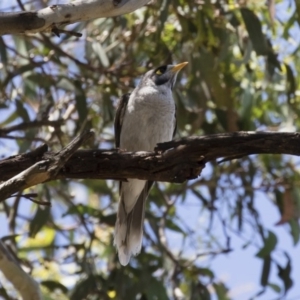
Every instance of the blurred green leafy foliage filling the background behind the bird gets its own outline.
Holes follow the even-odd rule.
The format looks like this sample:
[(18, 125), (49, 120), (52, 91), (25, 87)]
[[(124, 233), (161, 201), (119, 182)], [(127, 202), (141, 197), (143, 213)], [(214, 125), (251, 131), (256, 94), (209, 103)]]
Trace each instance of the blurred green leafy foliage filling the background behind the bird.
[[(146, 70), (172, 61), (189, 62), (174, 91), (178, 137), (297, 130), (299, 43), (290, 41), (299, 3), (268, 3), (153, 1), (129, 15), (69, 26), (82, 38), (0, 37), (0, 126), (23, 124), (1, 134), (1, 156), (43, 142), (58, 150), (84, 128), (96, 131), (87, 148), (113, 147), (118, 97)], [(274, 18), (272, 5), (290, 14)], [(25, 7), (36, 9), (34, 3)], [(28, 127), (35, 120), (57, 123)], [(118, 184), (110, 180), (36, 187), (38, 200), (50, 201), (51, 208), (21, 194), (9, 199), (1, 209), (8, 224), (4, 240), (41, 282), (46, 299), (231, 299), (211, 264), (241, 237), (261, 260), (257, 295), (285, 295), (297, 282), (293, 263), (286, 251), (282, 263), (276, 227), (264, 226), (256, 204), (263, 192), (296, 245), (298, 163), (288, 156), (252, 156), (211, 164), (183, 185), (156, 183), (142, 253), (125, 268), (112, 245)], [(276, 284), (271, 268), (278, 270)], [(10, 289), (0, 289), (5, 299), (14, 297)]]

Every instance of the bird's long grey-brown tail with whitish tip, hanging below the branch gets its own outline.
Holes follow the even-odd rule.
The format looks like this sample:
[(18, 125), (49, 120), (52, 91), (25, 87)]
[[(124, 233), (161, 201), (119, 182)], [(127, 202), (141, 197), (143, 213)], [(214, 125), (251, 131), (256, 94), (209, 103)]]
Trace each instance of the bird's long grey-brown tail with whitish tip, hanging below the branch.
[(123, 266), (129, 263), (131, 255), (136, 255), (141, 251), (147, 194), (148, 187), (146, 184), (129, 213), (126, 212), (124, 199), (121, 195), (114, 244), (117, 247), (120, 263)]

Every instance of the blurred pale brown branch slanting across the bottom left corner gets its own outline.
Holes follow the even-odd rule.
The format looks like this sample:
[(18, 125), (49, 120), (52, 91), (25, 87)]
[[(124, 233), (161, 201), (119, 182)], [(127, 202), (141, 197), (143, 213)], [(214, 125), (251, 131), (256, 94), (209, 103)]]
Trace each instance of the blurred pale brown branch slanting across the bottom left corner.
[(41, 300), (42, 294), (39, 285), (28, 275), (11, 253), (5, 244), (0, 240), (0, 270), (22, 296), (23, 300)]

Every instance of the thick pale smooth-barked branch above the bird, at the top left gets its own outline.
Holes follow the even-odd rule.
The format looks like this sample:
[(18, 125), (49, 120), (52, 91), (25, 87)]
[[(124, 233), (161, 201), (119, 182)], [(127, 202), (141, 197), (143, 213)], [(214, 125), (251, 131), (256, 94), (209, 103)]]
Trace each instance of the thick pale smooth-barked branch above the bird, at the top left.
[(144, 6), (149, 0), (77, 0), (52, 5), (38, 11), (0, 13), (0, 35), (59, 32), (57, 27), (95, 18), (127, 14)]

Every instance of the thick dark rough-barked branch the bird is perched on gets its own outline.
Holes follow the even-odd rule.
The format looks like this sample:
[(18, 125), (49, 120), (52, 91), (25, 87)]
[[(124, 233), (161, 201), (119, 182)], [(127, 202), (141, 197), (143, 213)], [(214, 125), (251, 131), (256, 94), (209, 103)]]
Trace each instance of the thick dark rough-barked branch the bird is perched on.
[[(260, 153), (300, 155), (298, 132), (236, 132), (189, 137), (158, 144), (155, 152), (132, 153), (116, 149), (73, 152), (75, 148), (72, 145), (76, 140), (78, 147), (90, 134), (92, 133), (83, 134), (75, 139), (71, 146), (67, 146), (65, 149), (70, 147), (73, 150), (68, 152), (63, 160), (62, 153), (66, 150), (58, 153), (45, 152), (46, 147), (43, 146), (34, 152), (0, 161), (0, 180), (7, 180), (0, 186), (0, 200), (5, 199), (3, 195), (7, 197), (9, 194), (4, 193), (6, 185), (16, 178), (22, 176), (24, 178), (24, 172), (27, 174), (26, 180), (22, 179), (23, 185), (15, 188), (15, 192), (24, 187), (63, 178), (118, 180), (137, 178), (180, 183), (196, 178), (206, 162), (219, 158), (231, 160)], [(41, 172), (37, 171), (41, 169), (40, 164), (42, 166), (46, 164)], [(31, 168), (35, 170), (37, 168), (33, 172), (34, 176)], [(15, 178), (12, 178), (14, 176)], [(17, 187), (16, 181), (10, 186)]]

